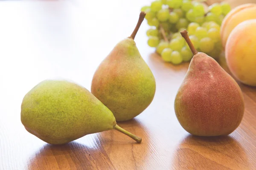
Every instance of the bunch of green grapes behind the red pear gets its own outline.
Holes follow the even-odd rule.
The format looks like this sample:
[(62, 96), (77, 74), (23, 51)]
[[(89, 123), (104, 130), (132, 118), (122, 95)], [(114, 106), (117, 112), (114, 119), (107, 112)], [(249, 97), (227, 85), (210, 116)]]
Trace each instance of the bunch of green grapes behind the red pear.
[(220, 26), (230, 10), (228, 3), (207, 7), (192, 0), (155, 0), (141, 8), (151, 26), (148, 45), (156, 48), (165, 62), (190, 61), (193, 54), (180, 35), (186, 29), (195, 48), (216, 59), (222, 51)]

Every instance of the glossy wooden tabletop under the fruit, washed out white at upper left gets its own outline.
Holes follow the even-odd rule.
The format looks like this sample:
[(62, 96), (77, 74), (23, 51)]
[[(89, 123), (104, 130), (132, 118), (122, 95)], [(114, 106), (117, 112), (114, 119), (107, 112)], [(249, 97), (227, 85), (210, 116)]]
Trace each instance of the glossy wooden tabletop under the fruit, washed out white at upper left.
[(135, 41), (156, 78), (156, 94), (143, 113), (119, 123), (142, 137), (141, 144), (111, 130), (54, 146), (21, 124), (23, 96), (38, 82), (62, 77), (90, 89), (99, 63), (131, 34), (141, 6), (149, 2), (0, 2), (0, 170), (256, 170), (256, 88), (239, 84), (246, 108), (231, 135), (189, 135), (174, 112), (189, 64), (162, 62), (147, 45), (146, 22)]

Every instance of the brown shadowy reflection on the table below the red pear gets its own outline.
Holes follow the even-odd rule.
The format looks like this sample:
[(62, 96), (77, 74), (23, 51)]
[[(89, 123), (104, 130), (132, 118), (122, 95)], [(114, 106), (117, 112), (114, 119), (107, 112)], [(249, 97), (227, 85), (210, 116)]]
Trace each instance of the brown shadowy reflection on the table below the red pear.
[(172, 167), (186, 170), (247, 170), (247, 155), (230, 136), (186, 136), (175, 151)]

